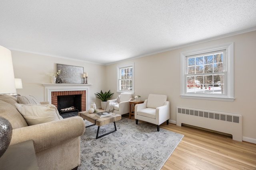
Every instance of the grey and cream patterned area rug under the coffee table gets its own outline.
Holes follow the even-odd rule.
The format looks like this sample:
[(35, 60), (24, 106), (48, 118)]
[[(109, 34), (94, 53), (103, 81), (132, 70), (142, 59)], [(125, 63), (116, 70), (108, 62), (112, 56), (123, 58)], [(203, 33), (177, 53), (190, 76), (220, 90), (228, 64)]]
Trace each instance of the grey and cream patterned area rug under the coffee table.
[[(124, 117), (116, 121), (117, 131), (99, 139), (97, 128), (87, 127), (81, 136), (78, 170), (160, 170), (184, 136)], [(112, 130), (114, 123), (101, 126), (99, 135)]]

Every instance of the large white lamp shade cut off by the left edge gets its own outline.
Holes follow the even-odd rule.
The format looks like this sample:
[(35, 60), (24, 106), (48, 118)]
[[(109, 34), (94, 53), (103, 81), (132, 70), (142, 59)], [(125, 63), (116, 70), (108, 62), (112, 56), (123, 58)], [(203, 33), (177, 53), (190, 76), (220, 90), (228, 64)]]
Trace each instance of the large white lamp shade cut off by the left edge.
[(11, 51), (0, 46), (0, 94), (16, 93)]

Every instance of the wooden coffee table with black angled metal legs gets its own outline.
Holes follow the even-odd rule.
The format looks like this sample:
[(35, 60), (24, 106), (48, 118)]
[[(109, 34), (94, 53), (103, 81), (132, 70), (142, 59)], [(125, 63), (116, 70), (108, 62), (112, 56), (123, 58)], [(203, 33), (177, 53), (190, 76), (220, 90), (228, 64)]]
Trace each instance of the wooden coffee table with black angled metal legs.
[[(103, 111), (104, 110), (97, 109), (98, 113), (103, 112)], [(78, 116), (82, 117), (83, 119), (86, 119), (87, 121), (90, 121), (91, 123), (94, 123), (93, 125), (98, 126), (96, 139), (116, 131), (116, 121), (122, 119), (122, 116), (118, 115), (116, 113), (112, 113), (111, 116), (98, 118), (98, 117), (96, 117), (95, 113), (89, 113), (89, 111), (80, 111), (80, 112), (78, 112)], [(105, 133), (105, 134), (99, 136), (100, 126), (107, 125), (109, 123), (114, 123), (115, 130), (110, 131), (108, 133)], [(90, 127), (90, 126), (93, 126), (93, 125), (89, 125), (89, 126), (86, 126), (86, 127)]]

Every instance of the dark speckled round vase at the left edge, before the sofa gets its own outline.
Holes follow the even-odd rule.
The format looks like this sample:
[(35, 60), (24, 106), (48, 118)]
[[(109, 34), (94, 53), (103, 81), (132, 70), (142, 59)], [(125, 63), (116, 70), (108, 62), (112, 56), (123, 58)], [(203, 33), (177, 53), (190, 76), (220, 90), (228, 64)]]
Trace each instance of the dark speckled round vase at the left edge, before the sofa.
[(12, 125), (4, 117), (0, 117), (0, 157), (10, 145), (12, 139)]

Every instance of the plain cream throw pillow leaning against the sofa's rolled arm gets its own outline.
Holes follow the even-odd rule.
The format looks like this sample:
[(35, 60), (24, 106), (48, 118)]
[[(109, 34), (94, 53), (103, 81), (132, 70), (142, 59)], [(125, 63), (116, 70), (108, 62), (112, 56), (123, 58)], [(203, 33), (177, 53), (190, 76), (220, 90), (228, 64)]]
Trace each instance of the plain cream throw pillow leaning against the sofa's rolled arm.
[(56, 106), (52, 104), (15, 104), (16, 108), (22, 114), (28, 125), (37, 125), (50, 121), (63, 119)]

